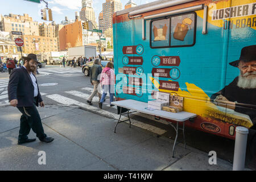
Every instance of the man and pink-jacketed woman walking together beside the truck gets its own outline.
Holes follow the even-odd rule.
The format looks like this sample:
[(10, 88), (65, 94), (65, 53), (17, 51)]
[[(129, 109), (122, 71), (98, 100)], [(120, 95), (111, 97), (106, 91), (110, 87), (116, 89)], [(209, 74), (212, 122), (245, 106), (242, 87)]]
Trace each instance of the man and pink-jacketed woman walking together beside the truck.
[[(108, 62), (106, 67), (102, 70), (100, 59), (96, 58), (94, 60), (94, 65), (90, 68), (90, 82), (93, 85), (93, 92), (87, 99), (87, 103), (92, 105), (93, 97), (98, 94), (100, 101), (98, 106), (102, 109), (102, 103), (105, 101), (106, 95), (109, 93), (110, 97), (110, 107), (114, 106), (111, 103), (114, 100), (114, 84), (115, 84), (115, 73), (114, 73), (114, 66), (112, 62)], [(103, 94), (100, 93), (101, 86), (103, 89)]]

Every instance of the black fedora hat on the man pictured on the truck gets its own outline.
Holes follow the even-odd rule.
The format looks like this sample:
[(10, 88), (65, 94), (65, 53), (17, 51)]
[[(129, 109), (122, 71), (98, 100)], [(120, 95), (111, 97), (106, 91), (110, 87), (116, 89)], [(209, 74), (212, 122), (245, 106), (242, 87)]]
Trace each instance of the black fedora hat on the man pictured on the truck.
[(233, 67), (238, 67), (240, 61), (248, 63), (256, 60), (256, 45), (243, 47), (241, 50), (240, 59), (229, 63)]

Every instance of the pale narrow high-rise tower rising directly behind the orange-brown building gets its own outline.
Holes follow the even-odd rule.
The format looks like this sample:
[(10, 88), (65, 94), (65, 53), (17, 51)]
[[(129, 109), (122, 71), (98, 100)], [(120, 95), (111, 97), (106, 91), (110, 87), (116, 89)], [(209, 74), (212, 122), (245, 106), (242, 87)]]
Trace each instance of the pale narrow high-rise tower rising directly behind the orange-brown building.
[(93, 1), (92, 0), (82, 0), (82, 9), (80, 11), (80, 19), (81, 20), (90, 20), (95, 27), (96, 24), (96, 16), (93, 10)]

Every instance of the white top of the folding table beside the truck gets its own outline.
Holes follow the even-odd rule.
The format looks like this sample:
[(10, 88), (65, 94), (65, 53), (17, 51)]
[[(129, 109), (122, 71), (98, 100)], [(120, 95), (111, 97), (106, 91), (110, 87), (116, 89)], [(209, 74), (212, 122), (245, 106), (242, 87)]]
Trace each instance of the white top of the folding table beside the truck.
[(113, 105), (117, 105), (120, 107), (125, 107), (127, 109), (135, 110), (141, 113), (146, 113), (150, 115), (156, 115), (162, 118), (172, 119), (175, 121), (186, 121), (189, 118), (196, 117), (196, 114), (194, 113), (188, 113), (185, 111), (181, 111), (179, 113), (171, 113), (165, 110), (147, 110), (145, 107), (147, 107), (146, 102), (136, 101), (136, 100), (122, 100), (122, 101), (115, 101), (111, 102)]

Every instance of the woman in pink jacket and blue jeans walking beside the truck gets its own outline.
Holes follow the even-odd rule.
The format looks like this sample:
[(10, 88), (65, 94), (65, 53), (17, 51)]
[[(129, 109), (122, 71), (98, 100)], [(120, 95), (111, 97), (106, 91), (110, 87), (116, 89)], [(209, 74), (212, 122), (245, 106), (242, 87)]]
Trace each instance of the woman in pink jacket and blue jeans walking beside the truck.
[(114, 85), (115, 85), (115, 73), (113, 71), (113, 63), (109, 62), (106, 64), (106, 67), (102, 70), (101, 72), (101, 78), (100, 78), (100, 83), (102, 89), (104, 89), (104, 92), (101, 96), (101, 100), (98, 103), (98, 106), (100, 109), (102, 109), (102, 103), (105, 100), (106, 94), (109, 92), (109, 97), (110, 97), (110, 107), (114, 106), (111, 104), (114, 100)]

